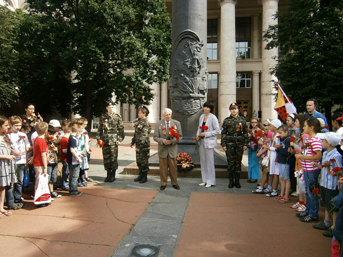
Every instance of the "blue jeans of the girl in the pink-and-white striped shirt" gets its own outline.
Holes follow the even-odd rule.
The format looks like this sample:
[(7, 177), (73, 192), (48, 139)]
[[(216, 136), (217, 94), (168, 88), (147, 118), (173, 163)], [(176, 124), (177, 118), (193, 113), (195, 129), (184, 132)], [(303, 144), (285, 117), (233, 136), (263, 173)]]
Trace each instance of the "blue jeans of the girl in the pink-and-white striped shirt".
[(306, 210), (305, 212), (308, 213), (311, 217), (318, 216), (319, 210), (319, 198), (318, 195), (312, 194), (310, 189), (310, 185), (313, 185), (314, 182), (318, 181), (318, 176), (320, 170), (316, 171), (303, 171), (304, 172), (304, 182), (305, 182), (305, 191), (306, 191)]

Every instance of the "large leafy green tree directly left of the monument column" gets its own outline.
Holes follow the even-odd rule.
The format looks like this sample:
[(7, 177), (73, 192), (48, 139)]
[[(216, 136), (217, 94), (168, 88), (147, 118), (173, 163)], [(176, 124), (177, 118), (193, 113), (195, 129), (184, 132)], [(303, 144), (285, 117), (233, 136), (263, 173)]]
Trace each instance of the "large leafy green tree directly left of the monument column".
[[(171, 21), (164, 0), (27, 2), (31, 16), (46, 28), (26, 38), (34, 34), (32, 44), (56, 61), (56, 77), (72, 74), (72, 83), (63, 83), (71, 89), (73, 112), (99, 116), (113, 95), (117, 102), (148, 104), (154, 96), (149, 84), (168, 79)], [(51, 70), (39, 70), (36, 77), (41, 72), (47, 85)]]

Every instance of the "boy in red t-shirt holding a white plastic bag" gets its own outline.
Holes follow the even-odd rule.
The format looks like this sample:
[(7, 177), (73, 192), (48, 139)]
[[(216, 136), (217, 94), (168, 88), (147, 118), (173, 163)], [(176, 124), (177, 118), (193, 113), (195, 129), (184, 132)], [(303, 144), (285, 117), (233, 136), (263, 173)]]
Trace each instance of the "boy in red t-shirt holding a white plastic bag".
[[(39, 122), (36, 125), (36, 132), (38, 137), (33, 143), (33, 166), (36, 173), (36, 184), (34, 186), (34, 191), (36, 192), (38, 188), (39, 175), (43, 174), (46, 176), (48, 174), (48, 158), (47, 158), (47, 148), (48, 144), (45, 140), (45, 134), (48, 132), (48, 123)], [(46, 207), (50, 203), (37, 205), (37, 207)]]

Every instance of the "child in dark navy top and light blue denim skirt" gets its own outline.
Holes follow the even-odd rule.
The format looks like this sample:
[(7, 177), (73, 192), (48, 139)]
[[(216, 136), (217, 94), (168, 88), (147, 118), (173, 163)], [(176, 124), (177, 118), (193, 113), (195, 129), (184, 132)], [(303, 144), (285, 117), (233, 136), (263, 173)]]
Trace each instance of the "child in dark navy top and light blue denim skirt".
[(281, 147), (277, 151), (277, 164), (279, 165), (279, 172), (281, 177), (281, 193), (278, 197), (275, 197), (275, 200), (278, 200), (279, 203), (285, 204), (290, 202), (290, 153), (288, 148), (290, 147), (291, 137), (288, 134), (288, 126), (281, 125), (278, 129), (280, 135)]

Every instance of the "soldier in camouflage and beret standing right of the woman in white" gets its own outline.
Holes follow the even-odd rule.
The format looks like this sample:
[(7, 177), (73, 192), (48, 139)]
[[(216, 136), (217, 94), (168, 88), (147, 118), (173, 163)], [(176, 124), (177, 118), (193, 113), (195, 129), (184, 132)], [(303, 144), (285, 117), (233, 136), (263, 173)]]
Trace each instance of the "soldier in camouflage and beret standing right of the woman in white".
[[(229, 188), (235, 184), (241, 188), (241, 162), (243, 152), (247, 149), (248, 129), (244, 117), (238, 115), (238, 106), (232, 103), (229, 107), (231, 116), (224, 119), (221, 127), (221, 146), (226, 154), (227, 171), (229, 172)], [(233, 181), (235, 177), (235, 183)]]

